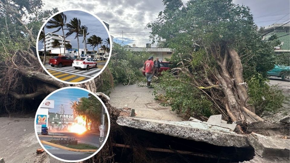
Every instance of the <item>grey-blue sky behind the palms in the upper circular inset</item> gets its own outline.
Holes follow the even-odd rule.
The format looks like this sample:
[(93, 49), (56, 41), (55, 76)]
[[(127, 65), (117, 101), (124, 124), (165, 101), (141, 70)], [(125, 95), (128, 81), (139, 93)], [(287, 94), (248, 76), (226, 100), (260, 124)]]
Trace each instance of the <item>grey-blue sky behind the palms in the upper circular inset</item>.
[[(81, 20), (81, 25), (85, 25), (88, 27), (88, 32), (90, 33), (87, 38), (89, 38), (92, 35), (96, 35), (98, 37), (101, 37), (101, 39), (103, 40), (103, 44), (105, 44), (105, 40), (106, 38), (108, 38), (108, 33), (105, 29), (105, 27), (103, 26), (103, 24), (101, 24), (101, 22), (95, 18), (93, 15), (83, 12), (83, 11), (65, 11), (63, 12), (66, 15), (66, 23), (69, 23), (70, 20), (72, 18), (78, 18)], [(64, 27), (65, 28), (65, 27)], [(57, 28), (53, 28), (53, 29), (47, 29), (45, 28), (45, 33), (48, 32), (53, 32), (55, 31)], [(68, 30), (64, 30), (64, 34), (66, 34), (68, 32)], [(56, 32), (55, 34), (62, 34), (62, 30)], [(71, 41), (72, 44), (72, 48), (77, 49), (78, 48), (78, 42), (77, 39), (75, 38), (75, 34), (72, 34), (68, 37), (66, 37), (66, 39)], [(82, 43), (83, 37), (79, 37), (79, 48), (83, 49), (84, 48), (84, 44)], [(100, 47), (100, 45), (99, 45)], [(43, 43), (38, 42), (38, 49), (42, 49), (43, 48)], [(87, 44), (87, 49), (88, 50), (93, 50), (93, 48)], [(97, 47), (95, 47), (95, 50), (97, 50)]]

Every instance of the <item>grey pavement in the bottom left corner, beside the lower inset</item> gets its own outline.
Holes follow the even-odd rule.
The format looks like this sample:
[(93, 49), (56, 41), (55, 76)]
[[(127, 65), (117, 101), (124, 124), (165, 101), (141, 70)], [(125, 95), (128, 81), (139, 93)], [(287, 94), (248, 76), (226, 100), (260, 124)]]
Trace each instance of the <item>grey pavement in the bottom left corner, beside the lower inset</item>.
[(60, 163), (46, 152), (36, 154), (38, 143), (34, 131), (34, 118), (0, 117), (0, 157), (5, 163), (45, 162)]

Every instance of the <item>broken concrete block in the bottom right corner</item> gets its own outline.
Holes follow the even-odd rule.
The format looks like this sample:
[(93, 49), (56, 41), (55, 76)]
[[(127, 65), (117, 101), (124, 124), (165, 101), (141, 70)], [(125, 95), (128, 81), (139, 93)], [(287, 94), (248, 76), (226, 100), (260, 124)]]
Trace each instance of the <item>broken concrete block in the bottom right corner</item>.
[(261, 157), (290, 157), (290, 139), (279, 139), (250, 133), (248, 140), (250, 145), (255, 149), (255, 153)]

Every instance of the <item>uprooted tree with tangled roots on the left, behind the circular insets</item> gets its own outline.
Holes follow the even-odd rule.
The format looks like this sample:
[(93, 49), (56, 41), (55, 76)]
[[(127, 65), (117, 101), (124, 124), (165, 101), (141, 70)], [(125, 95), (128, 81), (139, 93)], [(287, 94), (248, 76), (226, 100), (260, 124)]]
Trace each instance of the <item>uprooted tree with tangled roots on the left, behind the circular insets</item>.
[(42, 1), (0, 1), (0, 114), (35, 111), (58, 88), (78, 86), (96, 92), (114, 84), (108, 69), (79, 85), (59, 82), (43, 70), (37, 58), (37, 34), (43, 21), (58, 9), (42, 7)]

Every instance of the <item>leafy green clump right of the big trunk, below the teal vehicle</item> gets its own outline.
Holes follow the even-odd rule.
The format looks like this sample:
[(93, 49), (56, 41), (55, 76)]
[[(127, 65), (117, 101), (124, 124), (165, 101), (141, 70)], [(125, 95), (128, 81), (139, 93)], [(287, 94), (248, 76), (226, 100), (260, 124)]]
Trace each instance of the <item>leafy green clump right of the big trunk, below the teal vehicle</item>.
[(267, 83), (269, 80), (259, 73), (252, 75), (248, 82), (249, 103), (255, 107), (255, 112), (259, 116), (269, 116), (280, 112), (285, 100), (282, 90), (276, 86), (270, 87)]

